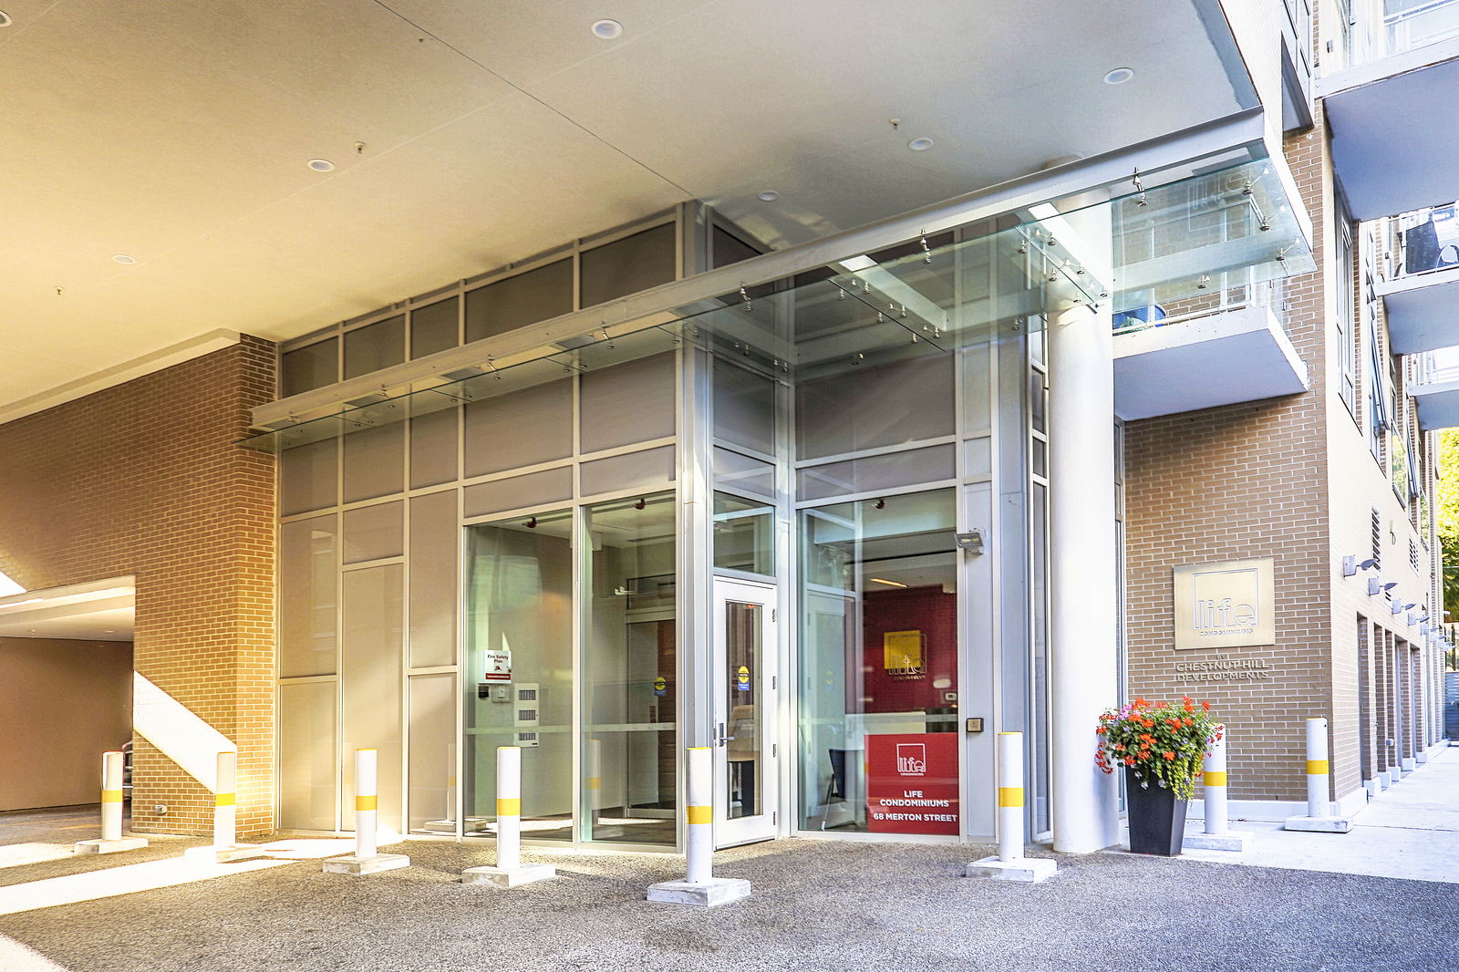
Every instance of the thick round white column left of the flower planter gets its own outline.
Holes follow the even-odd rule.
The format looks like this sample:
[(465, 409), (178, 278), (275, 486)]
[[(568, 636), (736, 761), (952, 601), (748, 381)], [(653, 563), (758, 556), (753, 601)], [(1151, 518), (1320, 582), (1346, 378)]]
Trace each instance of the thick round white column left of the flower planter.
[(1119, 679), (1109, 304), (1050, 314), (1048, 327), (1049, 795), (1053, 849), (1088, 854), (1119, 833), (1115, 778), (1094, 765), (1094, 727)]

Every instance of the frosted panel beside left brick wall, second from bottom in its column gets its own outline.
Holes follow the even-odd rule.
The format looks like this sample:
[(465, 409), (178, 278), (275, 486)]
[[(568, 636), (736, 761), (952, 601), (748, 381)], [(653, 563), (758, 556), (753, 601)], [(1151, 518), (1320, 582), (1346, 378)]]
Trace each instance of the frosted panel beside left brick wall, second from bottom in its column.
[(279, 676), (334, 674), (336, 517), (279, 530)]

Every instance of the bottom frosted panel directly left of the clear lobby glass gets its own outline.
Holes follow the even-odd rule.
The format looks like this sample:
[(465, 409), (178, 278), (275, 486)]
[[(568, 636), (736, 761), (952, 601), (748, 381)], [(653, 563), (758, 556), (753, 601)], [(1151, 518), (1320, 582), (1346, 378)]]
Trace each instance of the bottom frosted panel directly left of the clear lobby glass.
[(455, 833), (455, 676), (414, 676), (410, 693), (410, 832)]

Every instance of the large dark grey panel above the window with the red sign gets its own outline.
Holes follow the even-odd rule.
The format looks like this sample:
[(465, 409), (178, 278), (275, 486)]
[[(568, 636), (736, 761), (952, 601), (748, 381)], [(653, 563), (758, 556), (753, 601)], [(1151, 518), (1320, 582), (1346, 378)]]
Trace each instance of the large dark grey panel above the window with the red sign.
[(953, 356), (913, 358), (797, 388), (801, 458), (842, 455), (953, 432)]

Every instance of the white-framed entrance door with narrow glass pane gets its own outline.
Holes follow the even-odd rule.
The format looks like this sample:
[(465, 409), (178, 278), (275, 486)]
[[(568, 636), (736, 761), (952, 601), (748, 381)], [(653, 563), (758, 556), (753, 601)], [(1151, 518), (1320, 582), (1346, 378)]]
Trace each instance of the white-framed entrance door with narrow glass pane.
[(769, 841), (779, 806), (775, 588), (715, 578), (715, 845)]

